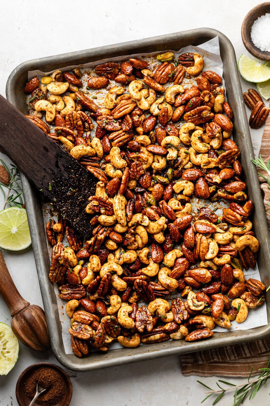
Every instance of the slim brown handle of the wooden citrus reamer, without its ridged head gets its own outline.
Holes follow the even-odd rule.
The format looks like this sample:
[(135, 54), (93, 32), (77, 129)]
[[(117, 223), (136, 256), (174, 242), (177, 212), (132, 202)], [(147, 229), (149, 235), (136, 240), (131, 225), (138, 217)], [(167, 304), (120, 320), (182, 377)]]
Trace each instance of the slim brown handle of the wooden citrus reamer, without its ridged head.
[(4, 257), (0, 251), (0, 295), (6, 302), (10, 314), (15, 316), (22, 309), (29, 306), (29, 302), (19, 294), (13, 280), (11, 279)]

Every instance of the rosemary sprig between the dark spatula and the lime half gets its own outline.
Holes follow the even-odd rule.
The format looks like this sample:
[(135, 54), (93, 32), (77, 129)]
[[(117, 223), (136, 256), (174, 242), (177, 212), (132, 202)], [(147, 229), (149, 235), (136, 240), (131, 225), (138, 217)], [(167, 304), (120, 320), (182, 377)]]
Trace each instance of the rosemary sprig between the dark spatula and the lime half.
[[(3, 209), (6, 208), (7, 205), (11, 206), (16, 206), (16, 207), (22, 207), (23, 205), (23, 199), (22, 199), (22, 194), (23, 191), (21, 190), (21, 186), (19, 184), (20, 182), (20, 176), (19, 176), (19, 170), (18, 168), (11, 164), (11, 168), (9, 169), (4, 161), (0, 159), (1, 164), (4, 166), (6, 171), (9, 173), (10, 176), (10, 182), (8, 185), (5, 185), (0, 181), (0, 190), (2, 191), (4, 195), (4, 207)], [(7, 189), (7, 193), (5, 193), (4, 188)]]

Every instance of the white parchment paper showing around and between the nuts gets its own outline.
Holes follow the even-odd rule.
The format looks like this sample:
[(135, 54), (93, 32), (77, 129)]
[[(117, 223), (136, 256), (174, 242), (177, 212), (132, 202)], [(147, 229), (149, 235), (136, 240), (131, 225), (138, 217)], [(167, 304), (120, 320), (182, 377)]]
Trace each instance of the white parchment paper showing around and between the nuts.
[[(164, 50), (164, 52), (167, 52), (167, 51), (168, 50)], [(213, 71), (217, 72), (219, 74), (219, 76), (223, 77), (223, 64), (222, 64), (222, 60), (221, 60), (220, 52), (219, 52), (218, 37), (215, 37), (215, 38), (211, 39), (210, 41), (207, 41), (206, 43), (201, 44), (200, 47), (190, 45), (185, 48), (182, 48), (181, 50), (179, 50), (179, 52), (175, 52), (175, 51), (172, 51), (172, 52), (174, 52), (176, 59), (183, 52), (198, 52), (200, 55), (202, 55), (204, 57), (204, 70), (213, 70)], [(82, 80), (83, 87), (80, 88), (80, 91), (86, 92), (87, 80), (88, 80), (89, 76), (91, 76), (94, 73), (94, 67), (96, 65), (107, 62), (107, 61), (121, 62), (122, 60), (127, 60), (131, 57), (144, 57), (144, 59), (149, 62), (149, 69), (154, 69), (155, 66), (157, 65), (157, 60), (155, 59), (155, 56), (157, 55), (157, 53), (162, 53), (162, 52), (153, 52), (153, 53), (147, 54), (147, 55), (146, 54), (125, 55), (125, 56), (121, 56), (121, 57), (117, 57), (117, 58), (102, 59), (100, 61), (95, 61), (95, 62), (87, 63), (84, 65), (63, 67), (63, 68), (61, 68), (61, 70), (70, 71), (74, 67), (80, 67), (80, 69), (83, 73), (86, 72), (87, 74), (84, 75), (85, 77)], [(39, 70), (28, 71), (28, 80), (30, 80), (33, 76), (38, 76), (39, 78), (41, 78), (42, 76), (47, 76), (47, 75), (50, 75), (51, 73), (53, 73), (53, 71), (50, 71), (50, 72), (41, 72)], [(193, 84), (193, 82), (195, 82), (194, 78), (191, 78), (191, 79), (185, 78), (183, 80), (182, 85), (183, 85), (183, 87), (185, 87), (185, 85), (191, 86), (191, 84)], [(111, 84), (114, 85), (114, 83), (115, 83), (114, 81), (111, 81)], [(168, 87), (168, 86), (171, 86), (171, 84), (172, 83), (167, 83), (164, 86)], [(196, 82), (195, 82), (195, 84), (196, 84)], [(115, 84), (115, 85), (119, 85), (119, 84)], [(223, 85), (224, 85), (224, 80), (223, 80)], [(98, 104), (99, 106), (101, 106), (102, 101), (104, 99), (104, 95), (106, 93), (107, 93), (107, 90), (105, 90), (105, 89), (99, 89), (98, 91), (90, 90), (89, 97), (91, 96), (91, 94), (96, 95), (97, 99), (95, 99), (95, 103)], [(28, 100), (29, 100), (29, 98), (30, 97), (28, 97)], [(94, 124), (95, 124), (95, 122), (94, 122)], [(180, 123), (180, 124), (182, 125), (182, 123)], [(178, 125), (178, 123), (174, 123), (174, 125), (176, 125), (176, 127), (177, 126), (181, 127), (181, 125)], [(94, 135), (94, 130), (92, 131), (92, 134)], [(203, 199), (195, 199), (194, 197), (192, 198), (191, 203), (193, 206), (194, 215), (197, 214), (198, 206), (206, 205), (206, 202), (204, 202)], [(225, 203), (225, 202), (211, 203), (211, 202), (207, 201), (207, 205), (211, 209), (217, 208), (216, 214), (218, 216), (222, 215), (223, 207), (227, 207), (227, 203)], [(51, 206), (49, 204), (46, 204), (43, 206), (43, 216), (44, 216), (45, 225), (46, 225), (46, 222), (49, 221), (49, 219), (51, 218), (50, 209), (51, 209)], [(57, 220), (56, 217), (55, 217), (55, 220)], [(66, 239), (63, 241), (63, 244), (64, 244), (64, 246), (68, 245), (68, 242), (66, 241)], [(52, 247), (49, 246), (49, 244), (48, 244), (48, 251), (49, 251), (49, 255), (51, 257)], [(48, 273), (49, 273), (49, 270), (48, 270)], [(257, 266), (254, 270), (249, 269), (247, 272), (244, 271), (244, 274), (245, 274), (246, 279), (254, 278), (254, 279), (261, 280)], [(54, 285), (54, 287), (55, 287), (55, 295), (57, 298), (59, 317), (60, 317), (60, 321), (62, 323), (62, 338), (63, 338), (65, 352), (66, 352), (66, 354), (71, 354), (72, 350), (71, 350), (71, 346), (70, 346), (70, 335), (68, 333), (68, 328), (70, 327), (70, 318), (68, 317), (68, 315), (66, 314), (66, 311), (65, 311), (66, 301), (62, 300), (59, 297), (59, 291), (58, 291), (56, 284)], [(168, 297), (169, 301), (174, 296), (175, 296), (175, 294), (171, 294)], [(263, 304), (263, 305), (257, 307), (256, 309), (251, 309), (249, 311), (249, 315), (248, 315), (247, 319), (242, 324), (238, 324), (238, 323), (236, 323), (236, 321), (232, 322), (232, 327), (230, 328), (230, 331), (247, 330), (249, 328), (264, 326), (266, 324), (267, 324), (266, 305)], [(221, 331), (223, 333), (225, 332), (224, 329), (219, 326), (216, 326), (214, 331)], [(187, 345), (188, 345), (188, 343), (187, 343)], [(110, 348), (122, 348), (122, 347), (117, 342), (113, 342), (110, 345), (109, 350), (110, 350)]]

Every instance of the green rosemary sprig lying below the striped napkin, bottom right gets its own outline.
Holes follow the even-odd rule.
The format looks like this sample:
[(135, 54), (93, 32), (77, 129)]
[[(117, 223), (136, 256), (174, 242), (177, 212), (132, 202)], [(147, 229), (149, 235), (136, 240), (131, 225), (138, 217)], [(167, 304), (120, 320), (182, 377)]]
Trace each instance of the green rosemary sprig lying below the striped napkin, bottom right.
[[(227, 382), (227, 381), (224, 381), (222, 379), (218, 380), (218, 382), (220, 382), (220, 383), (223, 383), (225, 385), (229, 385), (230, 388), (223, 388), (223, 387), (221, 387), (221, 385), (218, 382), (216, 382), (217, 386), (220, 389), (214, 390), (214, 389), (208, 387), (203, 382), (200, 382), (200, 381), (197, 380), (197, 382), (199, 384), (201, 384), (202, 386), (204, 386), (207, 389), (210, 389), (210, 391), (204, 392), (207, 396), (202, 400), (201, 403), (203, 403), (206, 399), (208, 399), (208, 397), (217, 394), (218, 396), (215, 398), (214, 402), (212, 403), (212, 405), (215, 405), (215, 404), (217, 404), (217, 402), (219, 402), (221, 397), (223, 397), (223, 395), (226, 392), (232, 391), (232, 390), (235, 390), (235, 392), (234, 392), (234, 403), (232, 404), (232, 406), (239, 406), (240, 404), (243, 404), (244, 400), (246, 399), (246, 397), (248, 395), (249, 395), (249, 400), (253, 399), (253, 397), (255, 397), (257, 391), (260, 389), (261, 384), (265, 385), (266, 382), (268, 381), (268, 379), (270, 378), (270, 368), (268, 368), (269, 364), (270, 364), (270, 356), (268, 357), (268, 363), (267, 363), (266, 368), (260, 368), (259, 369), (259, 371), (263, 371), (263, 372), (261, 373), (261, 375), (257, 379), (252, 380), (252, 381), (250, 380), (251, 374), (253, 372), (253, 367), (252, 367), (247, 382), (242, 383), (240, 385), (235, 385), (234, 383)], [(226, 404), (228, 404), (228, 403), (226, 403)]]

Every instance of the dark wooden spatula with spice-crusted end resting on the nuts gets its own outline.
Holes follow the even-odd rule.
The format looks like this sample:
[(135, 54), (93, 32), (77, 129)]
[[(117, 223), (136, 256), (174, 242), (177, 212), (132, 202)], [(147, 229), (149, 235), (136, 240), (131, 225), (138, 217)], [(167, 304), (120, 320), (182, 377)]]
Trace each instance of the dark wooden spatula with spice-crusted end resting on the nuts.
[[(97, 179), (0, 95), (0, 147), (87, 240)], [(27, 204), (27, 202), (26, 202)]]

